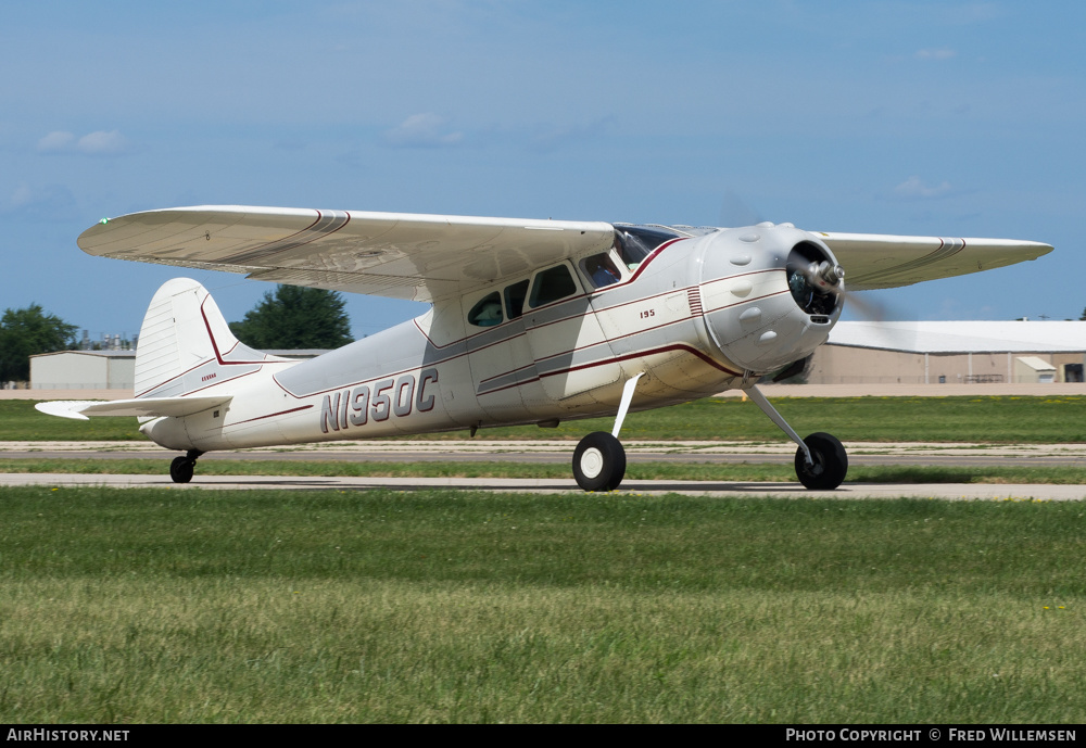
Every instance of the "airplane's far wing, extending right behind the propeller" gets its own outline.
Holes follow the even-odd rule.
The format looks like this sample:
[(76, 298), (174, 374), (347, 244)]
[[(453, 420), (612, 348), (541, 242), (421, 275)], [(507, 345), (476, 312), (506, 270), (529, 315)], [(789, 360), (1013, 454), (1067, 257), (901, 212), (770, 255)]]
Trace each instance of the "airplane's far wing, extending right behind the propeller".
[(812, 231), (845, 268), (853, 291), (889, 289), (922, 280), (990, 270), (1052, 251), (1049, 244), (1014, 239), (943, 239)]

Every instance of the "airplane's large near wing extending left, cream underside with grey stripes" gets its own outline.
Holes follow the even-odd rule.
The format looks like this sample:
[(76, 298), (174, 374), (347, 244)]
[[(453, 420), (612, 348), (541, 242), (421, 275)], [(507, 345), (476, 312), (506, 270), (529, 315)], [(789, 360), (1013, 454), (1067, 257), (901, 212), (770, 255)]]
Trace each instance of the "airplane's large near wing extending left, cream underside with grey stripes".
[(245, 274), (336, 291), (440, 301), (581, 252), (604, 251), (598, 221), (472, 218), (212, 205), (103, 219), (88, 254)]

